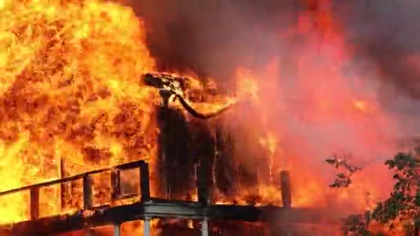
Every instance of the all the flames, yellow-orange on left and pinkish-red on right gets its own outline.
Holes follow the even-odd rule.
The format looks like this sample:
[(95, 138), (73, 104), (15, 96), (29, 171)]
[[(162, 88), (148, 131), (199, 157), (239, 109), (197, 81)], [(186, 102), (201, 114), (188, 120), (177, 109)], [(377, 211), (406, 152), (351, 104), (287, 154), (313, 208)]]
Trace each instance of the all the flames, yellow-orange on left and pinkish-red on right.
[[(62, 173), (61, 162), (66, 163), (66, 175), (75, 175), (147, 159), (151, 175), (159, 175), (155, 159), (160, 130), (155, 107), (160, 97), (157, 90), (140, 81), (142, 75), (157, 69), (145, 43), (144, 23), (133, 10), (102, 0), (0, 0), (0, 12), (0, 177), (4, 179), (0, 191), (57, 179)], [(341, 68), (349, 52), (344, 50), (339, 23), (332, 20), (328, 8), (324, 6), (315, 15), (301, 14), (298, 19), (298, 27), (279, 32), (278, 40), (305, 35), (305, 48), (294, 57), (298, 65), (294, 88), (303, 91), (305, 97), (292, 96), (282, 85), (283, 80), (277, 79), (287, 68), (274, 58), (263, 68), (238, 68), (233, 78), (238, 81), (235, 99), (208, 96), (206, 103), (195, 103), (199, 110), (213, 112), (244, 101), (245, 108), (238, 105), (240, 112), (227, 114), (223, 122), (240, 120), (241, 124), (229, 125), (232, 132), (240, 130), (239, 136), (249, 139), (241, 139), (238, 145), (243, 144), (242, 149), (248, 142), (259, 146), (266, 158), (262, 164), (268, 165), (269, 178), (261, 177), (253, 187), (239, 186), (234, 197), (220, 195), (216, 201), (247, 204), (249, 195), (257, 193), (257, 204), (280, 204), (278, 173), (289, 170), (293, 206), (371, 208), (387, 193), (375, 187), (376, 182), (363, 180), (361, 174), (349, 189), (330, 190), (330, 175), (318, 168), (322, 162), (316, 162), (321, 160), (310, 157), (313, 153), (330, 155), (325, 152), (347, 150), (349, 145), (322, 143), (326, 139), (312, 144), (298, 136), (350, 132), (354, 139), (361, 139), (352, 144), (358, 146), (355, 155), (371, 153), (372, 147), (382, 148), (377, 153), (389, 154), (394, 149), (381, 146), (384, 140), (390, 140), (378, 132), (378, 127), (395, 125), (370, 91), (358, 92), (363, 87), (360, 78), (343, 83), (346, 80)], [(313, 19), (317, 26), (310, 23)], [(307, 52), (301, 52), (304, 50)], [(200, 79), (193, 81), (194, 88), (201, 92), (213, 86), (200, 83)], [(274, 112), (294, 117), (274, 120)], [(332, 125), (341, 123), (352, 130)], [(296, 134), (283, 132), (291, 130), (286, 126), (296, 126), (292, 128)], [(330, 149), (321, 151), (317, 145)], [(376, 168), (381, 161), (369, 159), (363, 164), (383, 176), (381, 168)], [(103, 190), (95, 189), (95, 195), (100, 197)], [(153, 182), (151, 190), (158, 194)], [(41, 195), (49, 196), (48, 201), (41, 202), (41, 215), (68, 210), (61, 208), (58, 188)], [(1, 198), (0, 223), (28, 219), (27, 202), (28, 195), (24, 194)]]

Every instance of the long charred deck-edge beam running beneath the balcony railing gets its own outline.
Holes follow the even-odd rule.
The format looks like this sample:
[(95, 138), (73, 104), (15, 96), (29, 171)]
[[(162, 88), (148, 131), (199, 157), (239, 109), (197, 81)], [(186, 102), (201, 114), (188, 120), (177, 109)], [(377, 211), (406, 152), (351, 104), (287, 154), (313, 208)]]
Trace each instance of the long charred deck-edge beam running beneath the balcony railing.
[[(156, 199), (157, 200), (157, 199)], [(334, 217), (325, 216), (325, 209), (281, 208), (278, 206), (201, 206), (186, 201), (137, 202), (124, 206), (92, 208), (71, 215), (45, 217), (37, 220), (18, 222), (0, 226), (0, 235), (54, 235), (86, 226), (119, 225), (137, 219), (178, 218), (204, 219), (209, 221), (236, 220), (242, 222), (282, 222), (319, 224), (330, 222), (339, 224)]]

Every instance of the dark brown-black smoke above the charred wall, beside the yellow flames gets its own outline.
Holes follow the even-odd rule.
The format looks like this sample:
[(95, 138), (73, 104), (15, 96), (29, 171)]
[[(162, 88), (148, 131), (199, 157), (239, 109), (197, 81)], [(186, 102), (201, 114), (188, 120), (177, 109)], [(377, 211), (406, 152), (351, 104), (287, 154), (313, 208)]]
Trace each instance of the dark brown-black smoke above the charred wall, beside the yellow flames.
[[(286, 2), (289, 2), (287, 4)], [(229, 77), (237, 66), (266, 63), (267, 41), (287, 25), (292, 1), (133, 1), (161, 70)], [(289, 17), (290, 18), (290, 17)], [(268, 56), (268, 57), (267, 57)]]

